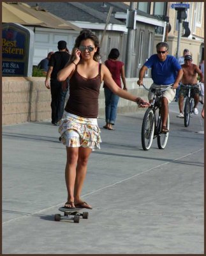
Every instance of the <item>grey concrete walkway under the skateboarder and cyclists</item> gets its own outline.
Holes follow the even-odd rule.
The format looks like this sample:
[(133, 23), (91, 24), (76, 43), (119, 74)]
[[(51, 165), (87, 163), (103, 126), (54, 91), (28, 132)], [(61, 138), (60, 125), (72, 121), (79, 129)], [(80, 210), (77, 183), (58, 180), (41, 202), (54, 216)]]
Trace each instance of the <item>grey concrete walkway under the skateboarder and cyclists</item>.
[(115, 131), (101, 129), (82, 191), (93, 209), (78, 224), (54, 221), (66, 202), (57, 126), (3, 127), (3, 254), (204, 252), (203, 120), (193, 116), (184, 127), (172, 102), (165, 150), (154, 140), (144, 151), (143, 113), (118, 115)]

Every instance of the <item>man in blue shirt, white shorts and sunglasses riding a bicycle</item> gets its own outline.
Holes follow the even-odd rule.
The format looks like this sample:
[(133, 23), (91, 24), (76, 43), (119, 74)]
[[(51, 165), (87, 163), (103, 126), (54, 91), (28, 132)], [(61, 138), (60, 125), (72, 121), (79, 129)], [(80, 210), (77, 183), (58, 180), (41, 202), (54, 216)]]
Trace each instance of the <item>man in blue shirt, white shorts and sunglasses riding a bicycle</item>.
[[(164, 88), (171, 84), (173, 88), (168, 88), (163, 92), (161, 98), (161, 120), (162, 127), (161, 132), (168, 132), (166, 127), (166, 121), (168, 117), (168, 104), (172, 102), (175, 97), (176, 88), (179, 86), (179, 82), (182, 79), (183, 71), (177, 59), (171, 55), (168, 55), (169, 45), (165, 42), (160, 42), (156, 45), (157, 54), (153, 54), (149, 60), (147, 60), (142, 68), (140, 68), (139, 79), (137, 84), (141, 86), (143, 84), (143, 76), (148, 68), (152, 68), (152, 87)], [(149, 102), (152, 102), (153, 93), (148, 93)]]

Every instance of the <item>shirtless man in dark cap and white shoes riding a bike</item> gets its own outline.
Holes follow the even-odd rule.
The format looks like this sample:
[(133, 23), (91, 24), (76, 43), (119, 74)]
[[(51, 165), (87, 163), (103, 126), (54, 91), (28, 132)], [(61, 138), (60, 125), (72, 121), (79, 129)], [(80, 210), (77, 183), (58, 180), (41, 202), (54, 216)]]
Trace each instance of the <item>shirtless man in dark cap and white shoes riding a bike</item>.
[[(193, 59), (191, 55), (186, 55), (184, 57), (184, 64), (181, 65), (182, 70), (183, 70), (183, 76), (182, 76), (182, 80), (181, 83), (184, 85), (190, 84), (190, 85), (196, 85), (198, 83), (197, 80), (197, 74), (200, 75), (200, 79), (201, 82), (204, 83), (204, 76), (200, 70), (200, 68), (198, 67), (198, 65), (195, 65), (192, 63)], [(184, 118), (184, 114), (183, 114), (183, 102), (184, 102), (184, 98), (186, 97), (187, 94), (187, 88), (180, 86), (180, 90), (179, 90), (179, 110), (180, 113), (179, 115), (177, 115), (177, 117), (180, 118)], [(193, 109), (193, 113), (195, 115), (198, 115), (198, 102), (200, 100), (200, 91), (198, 88), (193, 88), (193, 90), (191, 90), (191, 97), (193, 97), (194, 101), (195, 101), (195, 106)]]

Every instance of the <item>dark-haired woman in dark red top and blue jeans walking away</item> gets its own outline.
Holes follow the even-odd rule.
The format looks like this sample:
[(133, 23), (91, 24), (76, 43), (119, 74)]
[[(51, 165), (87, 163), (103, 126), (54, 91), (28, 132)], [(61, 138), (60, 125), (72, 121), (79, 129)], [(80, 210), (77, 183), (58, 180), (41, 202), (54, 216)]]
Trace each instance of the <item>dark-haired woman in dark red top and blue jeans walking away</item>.
[[(126, 87), (126, 79), (124, 75), (124, 63), (122, 61), (118, 61), (119, 58), (119, 50), (113, 48), (108, 54), (108, 60), (105, 61), (105, 65), (110, 70), (112, 74), (112, 78), (114, 79), (115, 83), (122, 88), (121, 85), (121, 78), (122, 83), (124, 85), (123, 90), (128, 90)], [(105, 120), (106, 125), (103, 128), (108, 130), (114, 130), (112, 125), (115, 124), (115, 119), (117, 117), (117, 105), (119, 102), (119, 96), (116, 95), (114, 92), (108, 88), (107, 84), (103, 84), (103, 88), (105, 91)]]

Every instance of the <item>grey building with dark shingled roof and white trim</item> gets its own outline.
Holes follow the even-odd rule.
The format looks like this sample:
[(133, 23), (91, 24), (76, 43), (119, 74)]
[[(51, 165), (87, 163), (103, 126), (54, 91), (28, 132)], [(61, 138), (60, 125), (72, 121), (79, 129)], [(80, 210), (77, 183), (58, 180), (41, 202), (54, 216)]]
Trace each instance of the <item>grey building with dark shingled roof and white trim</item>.
[[(131, 74), (129, 77), (137, 77), (138, 71), (145, 61), (152, 54), (152, 48), (154, 44), (154, 36), (156, 34), (156, 26), (164, 28), (165, 21), (154, 17), (149, 13), (136, 10), (135, 28), (133, 36), (132, 49), (127, 49), (127, 35), (128, 28), (126, 26), (127, 12), (129, 6), (121, 2), (28, 2), (31, 6), (39, 4), (40, 8), (45, 8), (48, 12), (54, 13), (62, 19), (68, 20), (74, 25), (82, 29), (91, 29), (98, 36), (101, 41), (101, 61), (104, 62), (108, 58), (108, 53), (112, 48), (118, 48), (121, 52), (119, 60), (126, 60), (126, 54), (131, 54)], [(61, 8), (59, 6), (61, 5)], [(108, 19), (108, 13), (112, 8), (112, 13)], [(50, 30), (50, 35), (43, 29), (44, 35), (47, 38), (53, 38), (52, 44), (56, 42), (54, 38), (57, 36), (52, 35), (56, 31)], [(42, 31), (43, 31), (42, 30)], [(48, 39), (45, 40), (41, 37), (40, 29), (35, 31), (35, 52), (34, 52), (34, 65), (40, 60), (40, 56), (43, 53), (45, 47), (50, 48), (47, 51), (54, 51)], [(58, 32), (59, 33), (59, 32)], [(68, 33), (63, 35), (63, 38), (67, 38), (68, 47), (71, 50), (75, 36), (77, 33)], [(70, 37), (70, 38), (69, 38)], [(161, 40), (163, 36), (161, 35)], [(45, 42), (43, 42), (45, 40)], [(64, 39), (63, 39), (64, 40)], [(70, 44), (71, 42), (71, 44)], [(54, 45), (53, 44), (53, 45)]]

